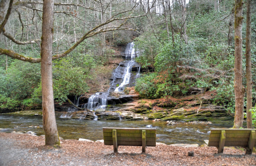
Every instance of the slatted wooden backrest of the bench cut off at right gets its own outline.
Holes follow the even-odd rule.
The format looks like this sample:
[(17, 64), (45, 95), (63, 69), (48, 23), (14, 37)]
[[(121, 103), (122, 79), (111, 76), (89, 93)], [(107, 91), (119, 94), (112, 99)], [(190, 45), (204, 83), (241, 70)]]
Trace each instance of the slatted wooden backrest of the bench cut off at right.
[[(226, 140), (224, 146), (241, 146), (248, 145), (251, 131), (256, 129), (211, 129), (208, 146), (219, 146), (221, 131), (225, 131)], [(256, 145), (256, 142), (254, 146)]]

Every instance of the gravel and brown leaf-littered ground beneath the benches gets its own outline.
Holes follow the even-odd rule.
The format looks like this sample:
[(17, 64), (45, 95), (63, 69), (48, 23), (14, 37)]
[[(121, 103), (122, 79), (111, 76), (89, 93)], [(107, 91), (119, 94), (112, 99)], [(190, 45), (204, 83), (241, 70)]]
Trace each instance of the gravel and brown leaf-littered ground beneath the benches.
[[(193, 157), (188, 156), (194, 151)], [(0, 132), (0, 166), (230, 166), (256, 165), (256, 154), (244, 155), (238, 148), (224, 148), (217, 154), (216, 147), (118, 147), (101, 142), (62, 140), (60, 148), (44, 145), (44, 137), (30, 134)]]

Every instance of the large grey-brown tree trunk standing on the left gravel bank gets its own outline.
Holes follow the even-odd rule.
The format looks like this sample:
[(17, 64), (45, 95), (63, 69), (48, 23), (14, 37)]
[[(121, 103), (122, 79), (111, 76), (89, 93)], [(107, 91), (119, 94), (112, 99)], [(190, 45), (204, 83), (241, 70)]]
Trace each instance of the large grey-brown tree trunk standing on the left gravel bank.
[(52, 85), (53, 0), (44, 0), (41, 42), (42, 107), (45, 145), (60, 145)]

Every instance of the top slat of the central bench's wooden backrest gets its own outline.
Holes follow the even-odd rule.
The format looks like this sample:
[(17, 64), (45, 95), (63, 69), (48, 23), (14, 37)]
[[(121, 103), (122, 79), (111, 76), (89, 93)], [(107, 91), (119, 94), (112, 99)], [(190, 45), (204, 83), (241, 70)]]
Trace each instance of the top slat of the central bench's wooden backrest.
[(124, 133), (142, 133), (142, 130), (146, 130), (146, 133), (156, 133), (156, 129), (148, 129), (148, 128), (140, 128), (140, 129), (134, 129), (134, 128), (108, 128), (108, 127), (103, 127), (102, 130), (103, 132), (111, 132), (112, 130), (116, 129), (116, 132), (124, 132)]

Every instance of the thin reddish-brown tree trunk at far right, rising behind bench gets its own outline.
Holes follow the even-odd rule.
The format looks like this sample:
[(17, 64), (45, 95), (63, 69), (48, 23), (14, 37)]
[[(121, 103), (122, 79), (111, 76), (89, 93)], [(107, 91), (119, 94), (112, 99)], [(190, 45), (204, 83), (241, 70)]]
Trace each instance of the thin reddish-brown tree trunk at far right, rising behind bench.
[(251, 59), (251, 0), (247, 0), (246, 15), (246, 122), (247, 128), (252, 129), (252, 59)]

